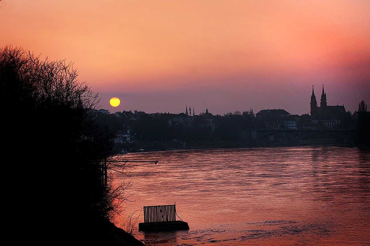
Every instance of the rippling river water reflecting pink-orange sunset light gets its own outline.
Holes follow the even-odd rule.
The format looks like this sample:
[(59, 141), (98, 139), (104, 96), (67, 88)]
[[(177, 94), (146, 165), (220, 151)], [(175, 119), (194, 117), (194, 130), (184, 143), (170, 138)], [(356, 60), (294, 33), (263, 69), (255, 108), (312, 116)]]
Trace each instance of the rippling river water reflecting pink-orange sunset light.
[(370, 151), (261, 147), (129, 153), (123, 217), (172, 205), (190, 230), (146, 245), (370, 245)]

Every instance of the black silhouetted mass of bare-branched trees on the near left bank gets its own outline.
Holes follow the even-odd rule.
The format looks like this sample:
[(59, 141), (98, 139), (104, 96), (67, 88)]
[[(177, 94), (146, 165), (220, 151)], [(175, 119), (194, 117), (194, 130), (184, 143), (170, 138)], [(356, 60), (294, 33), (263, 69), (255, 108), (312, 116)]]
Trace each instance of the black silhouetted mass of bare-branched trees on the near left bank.
[(124, 199), (106, 175), (115, 133), (97, 124), (97, 96), (77, 74), (65, 61), (0, 49), (1, 105), (17, 112), (1, 121), (3, 200), (28, 242), (103, 243)]

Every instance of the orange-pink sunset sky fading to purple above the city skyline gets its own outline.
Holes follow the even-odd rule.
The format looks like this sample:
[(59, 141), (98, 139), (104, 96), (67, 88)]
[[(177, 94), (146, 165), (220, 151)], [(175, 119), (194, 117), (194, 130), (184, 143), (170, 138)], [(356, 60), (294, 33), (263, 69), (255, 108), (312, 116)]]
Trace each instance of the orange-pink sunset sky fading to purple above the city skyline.
[(5, 45), (72, 62), (111, 113), (305, 114), (322, 84), (370, 106), (369, 0), (2, 0)]

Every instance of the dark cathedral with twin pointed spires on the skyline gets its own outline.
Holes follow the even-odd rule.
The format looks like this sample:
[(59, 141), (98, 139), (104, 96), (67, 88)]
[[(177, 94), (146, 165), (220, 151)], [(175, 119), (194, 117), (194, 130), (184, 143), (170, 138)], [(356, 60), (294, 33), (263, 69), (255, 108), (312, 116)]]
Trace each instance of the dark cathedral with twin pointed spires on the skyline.
[(310, 104), (311, 104), (311, 119), (315, 123), (315, 125), (319, 127), (338, 127), (341, 124), (341, 121), (343, 122), (345, 118), (348, 118), (349, 113), (346, 113), (344, 105), (327, 106), (324, 85), (320, 99), (320, 107), (317, 106), (313, 86)]

